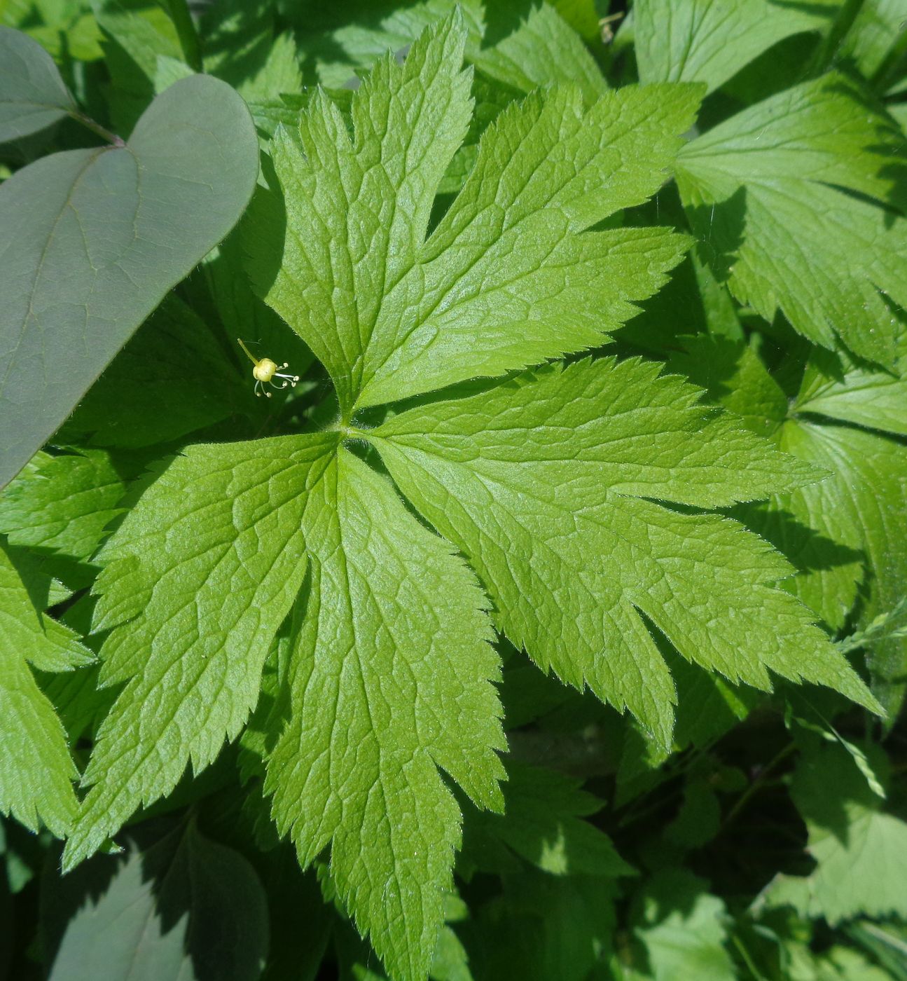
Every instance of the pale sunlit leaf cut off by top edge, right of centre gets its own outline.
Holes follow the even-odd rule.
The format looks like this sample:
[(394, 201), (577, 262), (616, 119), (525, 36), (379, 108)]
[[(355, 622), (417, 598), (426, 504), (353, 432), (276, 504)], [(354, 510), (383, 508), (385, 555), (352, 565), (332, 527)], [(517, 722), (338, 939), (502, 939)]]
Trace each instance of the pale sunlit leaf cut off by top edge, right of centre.
[(806, 5), (771, 0), (637, 0), (633, 4), (639, 80), (704, 81), (718, 88), (749, 61), (825, 18)]

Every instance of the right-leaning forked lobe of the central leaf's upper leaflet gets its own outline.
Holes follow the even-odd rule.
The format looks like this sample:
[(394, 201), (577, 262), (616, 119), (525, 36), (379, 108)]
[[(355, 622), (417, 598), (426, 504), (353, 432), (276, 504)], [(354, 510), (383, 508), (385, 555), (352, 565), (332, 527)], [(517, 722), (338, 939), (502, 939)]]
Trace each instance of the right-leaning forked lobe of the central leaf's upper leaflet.
[(686, 240), (585, 230), (658, 189), (698, 101), (696, 86), (627, 86), (586, 109), (565, 87), (501, 113), (381, 308), (357, 405), (587, 348), (632, 316), (631, 301), (666, 282)]

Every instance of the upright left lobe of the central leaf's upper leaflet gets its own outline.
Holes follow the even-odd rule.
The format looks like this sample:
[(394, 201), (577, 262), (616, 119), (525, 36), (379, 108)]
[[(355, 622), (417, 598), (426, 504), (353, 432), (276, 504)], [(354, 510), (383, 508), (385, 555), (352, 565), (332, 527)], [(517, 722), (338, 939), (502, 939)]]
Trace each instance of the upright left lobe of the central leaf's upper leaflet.
[(328, 368), (343, 409), (358, 393), (379, 306), (415, 261), (437, 185), (466, 135), (464, 44), (453, 17), (427, 30), (402, 66), (385, 56), (353, 96), (352, 139), (320, 91), (298, 140), (284, 132), (274, 146), (285, 242), (268, 216), (256, 222), (254, 205), (250, 213), (253, 282)]

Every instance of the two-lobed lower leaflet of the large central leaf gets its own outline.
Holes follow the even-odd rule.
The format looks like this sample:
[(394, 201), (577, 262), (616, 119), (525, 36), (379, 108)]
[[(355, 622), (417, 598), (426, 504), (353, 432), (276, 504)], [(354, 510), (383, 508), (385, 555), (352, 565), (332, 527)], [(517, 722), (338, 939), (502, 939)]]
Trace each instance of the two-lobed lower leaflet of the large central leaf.
[(277, 824), (304, 861), (333, 839), (340, 895), (416, 977), (459, 843), (436, 767), (500, 803), (499, 668), (472, 573), (336, 436), (191, 447), (102, 550), (102, 681), (131, 680), (99, 732), (64, 866), (235, 735), (302, 585), (303, 542), (292, 716), (269, 765)]

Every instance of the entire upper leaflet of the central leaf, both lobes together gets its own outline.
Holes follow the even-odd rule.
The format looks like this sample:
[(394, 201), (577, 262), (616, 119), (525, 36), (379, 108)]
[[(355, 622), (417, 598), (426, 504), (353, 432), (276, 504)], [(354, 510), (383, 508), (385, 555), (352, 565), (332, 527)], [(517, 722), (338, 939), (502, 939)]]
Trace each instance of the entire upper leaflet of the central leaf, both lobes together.
[(424, 240), (469, 122), (464, 41), (445, 22), (404, 66), (383, 59), (353, 97), (352, 139), (316, 97), (298, 139), (273, 145), (285, 216), (265, 195), (250, 210), (253, 282), (328, 368), (346, 417), (600, 343), (685, 245), (583, 231), (662, 183), (697, 101), (683, 86), (624, 88), (587, 111), (555, 89), (505, 110)]

